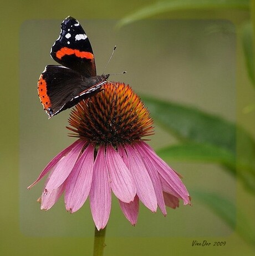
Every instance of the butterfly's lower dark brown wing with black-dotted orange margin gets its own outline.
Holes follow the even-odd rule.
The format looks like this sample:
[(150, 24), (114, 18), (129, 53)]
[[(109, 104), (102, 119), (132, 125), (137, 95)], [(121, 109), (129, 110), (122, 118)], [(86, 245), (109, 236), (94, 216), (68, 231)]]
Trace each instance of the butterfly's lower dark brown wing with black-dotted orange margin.
[(104, 83), (67, 67), (48, 65), (39, 77), (38, 96), (50, 118), (99, 92)]

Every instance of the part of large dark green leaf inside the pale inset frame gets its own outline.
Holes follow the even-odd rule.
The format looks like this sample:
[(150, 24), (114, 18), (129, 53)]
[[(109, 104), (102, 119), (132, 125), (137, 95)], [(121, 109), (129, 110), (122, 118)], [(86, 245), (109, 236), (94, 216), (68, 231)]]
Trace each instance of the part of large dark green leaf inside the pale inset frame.
[(154, 120), (181, 140), (215, 145), (236, 154), (236, 127), (196, 108), (142, 97)]

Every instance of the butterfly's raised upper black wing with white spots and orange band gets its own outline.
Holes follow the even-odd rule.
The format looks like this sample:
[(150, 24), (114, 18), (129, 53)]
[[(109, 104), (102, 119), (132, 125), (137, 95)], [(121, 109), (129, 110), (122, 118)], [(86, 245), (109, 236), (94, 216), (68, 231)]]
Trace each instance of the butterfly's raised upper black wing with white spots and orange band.
[(59, 38), (52, 46), (52, 58), (84, 77), (95, 77), (95, 58), (89, 38), (77, 19), (67, 17), (61, 24)]

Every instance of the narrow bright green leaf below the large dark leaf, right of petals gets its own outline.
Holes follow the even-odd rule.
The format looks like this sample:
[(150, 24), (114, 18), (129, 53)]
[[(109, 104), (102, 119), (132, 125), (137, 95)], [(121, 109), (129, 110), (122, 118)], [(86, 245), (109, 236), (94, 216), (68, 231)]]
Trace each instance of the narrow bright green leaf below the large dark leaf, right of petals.
[(225, 164), (232, 170), (236, 167), (236, 159), (231, 152), (208, 144), (185, 143), (171, 145), (157, 150), (157, 154), (170, 162), (172, 160), (188, 160)]

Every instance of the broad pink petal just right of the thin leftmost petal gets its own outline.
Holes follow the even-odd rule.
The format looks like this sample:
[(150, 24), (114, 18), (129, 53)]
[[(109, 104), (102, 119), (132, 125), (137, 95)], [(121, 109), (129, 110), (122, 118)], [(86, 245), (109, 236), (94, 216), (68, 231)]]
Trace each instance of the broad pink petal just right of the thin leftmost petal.
[(50, 192), (51, 190), (58, 188), (67, 179), (84, 144), (84, 140), (78, 140), (78, 143), (74, 145), (70, 152), (58, 162), (45, 187), (46, 191)]

